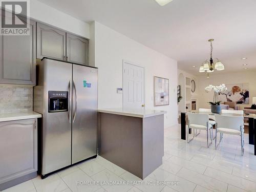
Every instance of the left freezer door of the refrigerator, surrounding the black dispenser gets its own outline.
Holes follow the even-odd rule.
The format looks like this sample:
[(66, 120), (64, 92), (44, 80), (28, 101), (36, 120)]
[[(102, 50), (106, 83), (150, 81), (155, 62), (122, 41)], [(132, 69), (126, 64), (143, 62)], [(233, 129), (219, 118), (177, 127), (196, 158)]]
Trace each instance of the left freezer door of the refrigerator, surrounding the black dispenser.
[[(72, 64), (44, 59), (44, 113), (42, 128), (42, 175), (71, 164)], [(69, 94), (69, 110), (48, 112), (49, 91)]]

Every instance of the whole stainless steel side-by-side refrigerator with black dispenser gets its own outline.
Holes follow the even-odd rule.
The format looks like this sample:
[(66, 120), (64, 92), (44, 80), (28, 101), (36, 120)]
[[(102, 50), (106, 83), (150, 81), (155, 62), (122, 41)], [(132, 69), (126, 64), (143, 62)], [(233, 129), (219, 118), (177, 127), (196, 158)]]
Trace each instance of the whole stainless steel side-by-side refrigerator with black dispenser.
[(37, 62), (33, 110), (42, 114), (42, 178), (97, 156), (97, 84), (97, 68), (49, 58)]

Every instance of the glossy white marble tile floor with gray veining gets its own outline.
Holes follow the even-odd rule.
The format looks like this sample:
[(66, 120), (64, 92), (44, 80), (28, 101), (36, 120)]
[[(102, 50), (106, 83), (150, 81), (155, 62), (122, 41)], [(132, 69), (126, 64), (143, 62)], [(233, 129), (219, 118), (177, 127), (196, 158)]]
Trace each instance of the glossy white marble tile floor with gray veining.
[[(77, 181), (91, 183), (77, 185)], [(106, 181), (122, 183), (114, 185)], [(253, 145), (248, 144), (248, 134), (245, 134), (245, 153), (242, 157), (238, 136), (224, 135), (223, 142), (215, 150), (214, 143), (206, 147), (204, 131), (186, 143), (180, 139), (180, 125), (168, 127), (164, 130), (163, 164), (141, 182), (138, 177), (98, 156), (44, 180), (38, 176), (2, 192), (256, 191)]]

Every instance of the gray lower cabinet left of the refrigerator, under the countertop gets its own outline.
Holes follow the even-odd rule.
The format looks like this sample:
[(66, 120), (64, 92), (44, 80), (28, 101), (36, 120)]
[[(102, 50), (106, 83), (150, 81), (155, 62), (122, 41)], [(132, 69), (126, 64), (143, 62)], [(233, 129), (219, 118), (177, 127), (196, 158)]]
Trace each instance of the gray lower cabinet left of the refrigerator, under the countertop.
[(0, 191), (37, 176), (37, 119), (0, 122)]

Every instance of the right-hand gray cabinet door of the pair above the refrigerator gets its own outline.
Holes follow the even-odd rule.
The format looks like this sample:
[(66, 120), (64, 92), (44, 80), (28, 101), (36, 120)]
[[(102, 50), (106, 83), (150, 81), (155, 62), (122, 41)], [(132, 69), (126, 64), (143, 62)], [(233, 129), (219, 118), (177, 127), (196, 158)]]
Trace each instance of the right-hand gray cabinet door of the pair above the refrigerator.
[(67, 61), (88, 65), (88, 43), (85, 38), (67, 33)]

